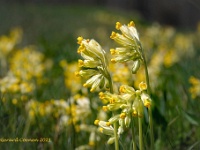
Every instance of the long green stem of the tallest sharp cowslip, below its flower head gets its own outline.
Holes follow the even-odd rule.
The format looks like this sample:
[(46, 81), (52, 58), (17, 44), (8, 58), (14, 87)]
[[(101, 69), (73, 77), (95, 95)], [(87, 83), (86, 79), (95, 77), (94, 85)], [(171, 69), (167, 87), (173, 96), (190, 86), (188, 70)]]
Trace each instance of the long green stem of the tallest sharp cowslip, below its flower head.
[[(147, 93), (150, 95), (151, 88), (150, 88), (150, 83), (149, 83), (149, 74), (148, 74), (148, 69), (147, 69), (147, 62), (146, 62), (142, 48), (141, 48), (141, 52), (142, 52), (142, 57), (143, 57), (143, 61), (144, 61), (145, 77), (146, 77), (146, 83), (147, 83)], [(148, 108), (148, 115), (149, 115), (149, 126), (150, 126), (151, 150), (154, 150), (153, 118), (152, 118), (151, 107)]]

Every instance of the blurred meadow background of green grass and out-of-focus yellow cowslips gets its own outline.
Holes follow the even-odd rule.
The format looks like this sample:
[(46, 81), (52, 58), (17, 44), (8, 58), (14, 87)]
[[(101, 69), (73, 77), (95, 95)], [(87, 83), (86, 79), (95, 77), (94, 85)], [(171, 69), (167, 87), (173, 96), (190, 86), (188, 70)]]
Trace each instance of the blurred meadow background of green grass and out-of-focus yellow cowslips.
[[(156, 149), (200, 149), (198, 0), (2, 0), (0, 138), (51, 142), (1, 142), (0, 148), (112, 149), (102, 135), (99, 145), (90, 143), (102, 103), (74, 75), (77, 37), (94, 38), (109, 53), (115, 23), (131, 20), (149, 64)], [(113, 79), (136, 87), (143, 69), (132, 76), (126, 67), (111, 65)]]

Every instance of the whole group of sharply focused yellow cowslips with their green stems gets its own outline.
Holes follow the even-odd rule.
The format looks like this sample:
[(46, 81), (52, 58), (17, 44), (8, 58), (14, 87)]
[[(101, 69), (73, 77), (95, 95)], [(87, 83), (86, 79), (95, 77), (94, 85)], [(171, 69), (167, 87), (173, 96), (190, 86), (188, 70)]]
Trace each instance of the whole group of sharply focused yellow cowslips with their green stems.
[[(108, 71), (108, 60), (105, 51), (95, 40), (83, 39), (83, 37), (78, 37), (78, 44), (80, 45), (78, 53), (81, 54), (84, 60), (78, 60), (81, 69), (76, 72), (76, 75), (86, 80), (83, 86), (89, 87), (91, 92), (101, 90), (99, 97), (104, 104), (102, 109), (104, 111), (111, 111), (113, 114), (107, 121), (99, 119), (94, 121), (94, 124), (99, 126), (101, 133), (110, 136), (107, 143), (115, 143), (115, 149), (118, 150), (118, 141), (121, 134), (124, 133), (125, 129), (130, 127), (133, 117), (138, 117), (139, 143), (140, 149), (142, 149), (142, 118), (144, 116), (144, 107), (147, 107), (149, 110), (150, 132), (153, 146), (151, 98), (149, 95), (150, 87), (146, 60), (134, 22), (131, 21), (128, 25), (122, 25), (117, 22), (116, 29), (120, 30), (121, 34), (113, 31), (110, 38), (117, 42), (120, 47), (110, 49), (111, 55), (113, 55), (111, 62), (131, 63), (132, 74), (136, 74), (140, 65), (144, 64), (147, 84), (141, 82), (138, 90), (128, 85), (121, 85), (118, 90), (119, 92), (116, 92), (113, 79)], [(133, 149), (136, 149), (134, 126), (131, 126), (131, 128)]]

